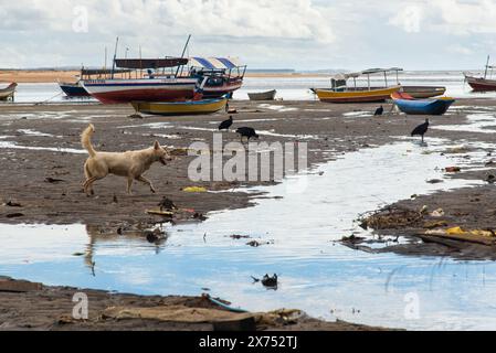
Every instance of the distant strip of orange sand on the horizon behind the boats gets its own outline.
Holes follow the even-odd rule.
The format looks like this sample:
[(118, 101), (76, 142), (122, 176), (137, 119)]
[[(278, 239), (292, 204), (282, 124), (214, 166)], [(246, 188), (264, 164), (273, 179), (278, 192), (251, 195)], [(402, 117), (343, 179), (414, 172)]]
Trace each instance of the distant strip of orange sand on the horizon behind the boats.
[[(76, 82), (80, 71), (63, 69), (3, 69), (0, 71), (0, 83), (15, 82), (18, 84), (27, 83), (56, 83), (56, 82)], [(246, 73), (246, 77), (273, 78), (273, 77), (325, 77), (329, 74), (324, 73)]]

